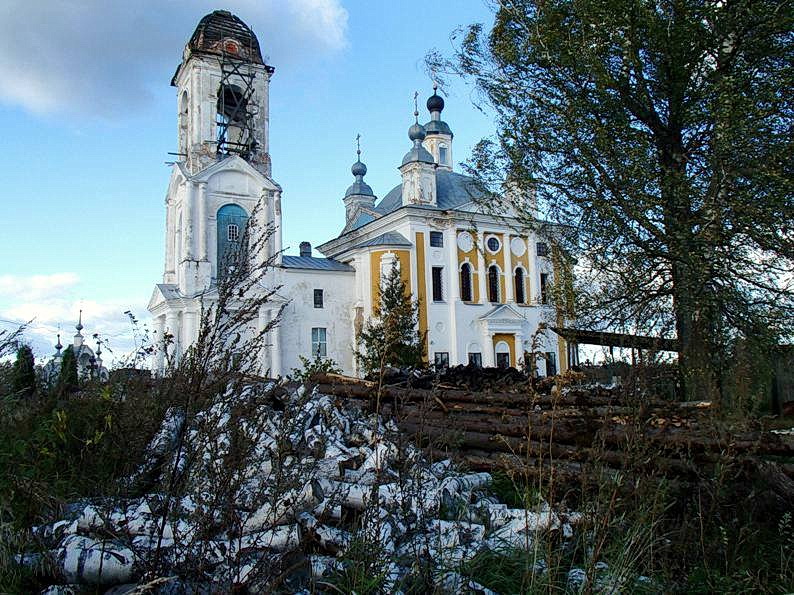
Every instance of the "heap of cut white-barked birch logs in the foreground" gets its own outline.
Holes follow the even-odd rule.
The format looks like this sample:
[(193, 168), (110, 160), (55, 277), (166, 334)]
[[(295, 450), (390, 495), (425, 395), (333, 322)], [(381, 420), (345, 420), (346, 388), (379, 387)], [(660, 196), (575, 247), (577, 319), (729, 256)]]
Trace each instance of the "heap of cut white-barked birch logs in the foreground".
[[(489, 473), (431, 463), (401, 438), (393, 422), (316, 389), (230, 387), (191, 415), (170, 410), (125, 497), (68, 505), (32, 529), (40, 547), (17, 561), (60, 583), (49, 593), (272, 592), (279, 581), (316, 592), (354, 563), (357, 544), (381, 592), (486, 594), (461, 563), (528, 549), (540, 532), (565, 542), (585, 520), (500, 504)], [(434, 584), (417, 586), (417, 568)]]

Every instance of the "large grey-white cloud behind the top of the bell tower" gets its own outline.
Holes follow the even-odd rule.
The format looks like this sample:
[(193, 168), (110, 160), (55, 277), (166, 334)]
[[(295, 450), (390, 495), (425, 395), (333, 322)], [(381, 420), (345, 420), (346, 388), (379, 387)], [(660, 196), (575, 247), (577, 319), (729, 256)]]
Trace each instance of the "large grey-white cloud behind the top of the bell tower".
[[(340, 0), (227, 0), (275, 65), (347, 44)], [(36, 113), (119, 117), (145, 106), (178, 64), (210, 0), (0, 3), (0, 101)]]

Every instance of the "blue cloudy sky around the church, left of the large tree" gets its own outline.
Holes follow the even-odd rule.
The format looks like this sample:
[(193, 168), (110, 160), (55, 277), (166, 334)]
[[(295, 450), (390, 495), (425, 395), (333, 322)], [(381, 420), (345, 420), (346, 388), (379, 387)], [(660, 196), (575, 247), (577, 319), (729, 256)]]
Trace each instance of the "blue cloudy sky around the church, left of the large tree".
[[(80, 309), (83, 333), (102, 335), (116, 360), (136, 341), (125, 312), (148, 322), (176, 150), (169, 82), (215, 9), (248, 23), (276, 69), (271, 159), (288, 254), (341, 231), (356, 134), (375, 194), (399, 183), (414, 91), (428, 119), (425, 55), (450, 55), (457, 28), (492, 22), (486, 0), (3, 0), (0, 329), (32, 321), (40, 361), (59, 329), (71, 341)], [(444, 92), (457, 167), (493, 119), (469, 83)]]

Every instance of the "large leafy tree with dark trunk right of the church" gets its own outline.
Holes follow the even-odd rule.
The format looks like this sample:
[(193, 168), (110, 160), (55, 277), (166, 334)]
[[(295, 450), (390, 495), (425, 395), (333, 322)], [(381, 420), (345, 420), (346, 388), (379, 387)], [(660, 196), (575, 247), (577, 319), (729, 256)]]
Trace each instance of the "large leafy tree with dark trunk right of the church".
[(472, 78), (497, 114), (472, 170), (562, 224), (579, 324), (674, 333), (687, 393), (716, 396), (725, 345), (791, 333), (791, 2), (503, 0), (495, 13), (434, 64)]

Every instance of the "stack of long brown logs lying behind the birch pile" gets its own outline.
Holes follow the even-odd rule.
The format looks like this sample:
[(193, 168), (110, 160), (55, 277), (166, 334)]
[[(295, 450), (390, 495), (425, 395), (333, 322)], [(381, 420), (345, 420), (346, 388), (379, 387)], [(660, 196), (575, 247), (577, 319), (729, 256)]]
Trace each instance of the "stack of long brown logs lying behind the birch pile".
[[(435, 456), (453, 455), (474, 470), (519, 470), (578, 482), (608, 469), (694, 481), (717, 464), (774, 469), (791, 481), (794, 436), (726, 431), (707, 402), (637, 402), (619, 387), (517, 382), (474, 391), (438, 382), (434, 388), (381, 385), (341, 375), (315, 378), (324, 394), (367, 404)], [(788, 498), (794, 497), (792, 494)]]

